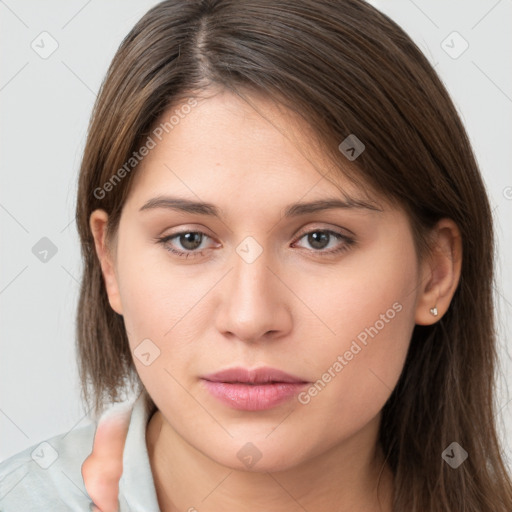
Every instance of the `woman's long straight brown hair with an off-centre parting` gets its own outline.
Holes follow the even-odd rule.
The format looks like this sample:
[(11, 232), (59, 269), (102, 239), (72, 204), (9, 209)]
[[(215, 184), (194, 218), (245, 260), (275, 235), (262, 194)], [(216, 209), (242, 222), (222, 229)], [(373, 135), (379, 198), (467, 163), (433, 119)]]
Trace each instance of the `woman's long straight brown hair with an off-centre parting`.
[[(395, 475), (395, 511), (510, 512), (512, 484), (495, 424), (494, 241), (486, 191), (432, 66), (396, 23), (362, 0), (168, 0), (122, 41), (94, 108), (79, 177), (84, 400), (97, 414), (127, 387), (142, 389), (123, 318), (107, 299), (89, 217), (104, 209), (109, 240), (115, 238), (137, 171), (133, 153), (169, 106), (209, 86), (241, 96), (258, 92), (298, 113), (345, 169), (338, 145), (355, 134), (365, 151), (352, 162), (352, 178), (405, 209), (419, 253), (437, 220), (457, 223), (459, 286), (440, 321), (416, 326), (383, 409), (380, 442)], [(441, 456), (454, 441), (468, 453), (457, 469)]]

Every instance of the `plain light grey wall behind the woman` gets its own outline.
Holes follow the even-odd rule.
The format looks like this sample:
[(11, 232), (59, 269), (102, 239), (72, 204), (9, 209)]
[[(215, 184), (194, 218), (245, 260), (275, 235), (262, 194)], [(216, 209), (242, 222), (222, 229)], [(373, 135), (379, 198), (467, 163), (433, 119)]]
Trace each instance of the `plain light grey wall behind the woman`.
[[(107, 67), (122, 38), (155, 3), (0, 1), (0, 461), (89, 421), (79, 402), (74, 348), (81, 275), (77, 173)], [(489, 190), (499, 239), (498, 423), (512, 467), (506, 387), (512, 380), (512, 1), (371, 3), (401, 25), (435, 66)], [(58, 48), (42, 58), (53, 40)], [(458, 55), (464, 40), (469, 46)], [(47, 262), (32, 252), (43, 237), (57, 249)]]

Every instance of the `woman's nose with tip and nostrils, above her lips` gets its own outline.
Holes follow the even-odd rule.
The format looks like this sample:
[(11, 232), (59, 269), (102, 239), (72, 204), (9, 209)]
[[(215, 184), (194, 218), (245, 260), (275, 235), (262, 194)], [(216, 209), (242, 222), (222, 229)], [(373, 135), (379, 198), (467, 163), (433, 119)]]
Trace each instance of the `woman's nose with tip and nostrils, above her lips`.
[(233, 268), (220, 288), (216, 328), (226, 337), (248, 343), (275, 339), (292, 329), (293, 293), (279, 275), (268, 251), (253, 262), (233, 255)]

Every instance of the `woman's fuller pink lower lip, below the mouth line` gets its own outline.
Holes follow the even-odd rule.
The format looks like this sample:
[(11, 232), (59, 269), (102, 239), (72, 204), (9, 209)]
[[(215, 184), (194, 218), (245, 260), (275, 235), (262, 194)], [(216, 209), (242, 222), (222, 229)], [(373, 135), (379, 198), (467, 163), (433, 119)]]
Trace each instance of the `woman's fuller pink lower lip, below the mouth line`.
[(307, 382), (275, 382), (272, 384), (242, 384), (212, 382), (203, 379), (206, 389), (217, 399), (234, 409), (263, 411), (271, 409), (297, 395)]

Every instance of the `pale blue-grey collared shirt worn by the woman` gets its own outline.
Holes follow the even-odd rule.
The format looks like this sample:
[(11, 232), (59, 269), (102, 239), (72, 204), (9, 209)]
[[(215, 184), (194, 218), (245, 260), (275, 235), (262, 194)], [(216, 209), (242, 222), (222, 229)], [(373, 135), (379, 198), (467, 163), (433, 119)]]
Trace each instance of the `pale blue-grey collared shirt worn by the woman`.
[[(134, 403), (119, 482), (121, 512), (159, 512), (146, 447), (149, 410), (144, 392)], [(31, 446), (0, 463), (1, 512), (90, 511), (81, 467), (92, 451), (91, 423)]]

